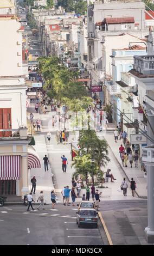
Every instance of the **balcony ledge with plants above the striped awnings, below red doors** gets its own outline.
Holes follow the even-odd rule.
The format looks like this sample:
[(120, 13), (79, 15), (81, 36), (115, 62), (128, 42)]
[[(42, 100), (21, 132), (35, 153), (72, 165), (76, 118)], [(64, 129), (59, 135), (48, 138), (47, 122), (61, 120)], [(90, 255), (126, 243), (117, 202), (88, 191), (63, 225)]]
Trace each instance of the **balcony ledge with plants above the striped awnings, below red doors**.
[(20, 129), (0, 129), (1, 141), (18, 141), (20, 139), (30, 140), (27, 136), (27, 127), (20, 127)]

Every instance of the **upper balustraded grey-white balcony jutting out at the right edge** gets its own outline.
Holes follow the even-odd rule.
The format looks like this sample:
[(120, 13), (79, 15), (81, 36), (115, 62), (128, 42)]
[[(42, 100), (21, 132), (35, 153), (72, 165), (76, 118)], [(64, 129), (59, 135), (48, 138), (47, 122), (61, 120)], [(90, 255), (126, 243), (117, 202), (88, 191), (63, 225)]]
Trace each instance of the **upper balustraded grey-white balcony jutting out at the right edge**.
[(154, 55), (134, 56), (134, 70), (143, 75), (154, 75)]

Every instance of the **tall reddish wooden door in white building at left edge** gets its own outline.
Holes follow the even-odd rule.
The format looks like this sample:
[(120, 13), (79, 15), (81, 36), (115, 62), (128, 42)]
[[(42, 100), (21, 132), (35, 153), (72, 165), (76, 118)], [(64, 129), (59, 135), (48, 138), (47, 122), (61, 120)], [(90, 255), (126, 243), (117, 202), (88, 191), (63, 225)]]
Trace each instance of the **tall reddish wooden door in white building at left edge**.
[[(0, 108), (0, 129), (12, 129), (11, 108)], [(11, 131), (0, 132), (0, 137), (9, 137), (11, 134)]]

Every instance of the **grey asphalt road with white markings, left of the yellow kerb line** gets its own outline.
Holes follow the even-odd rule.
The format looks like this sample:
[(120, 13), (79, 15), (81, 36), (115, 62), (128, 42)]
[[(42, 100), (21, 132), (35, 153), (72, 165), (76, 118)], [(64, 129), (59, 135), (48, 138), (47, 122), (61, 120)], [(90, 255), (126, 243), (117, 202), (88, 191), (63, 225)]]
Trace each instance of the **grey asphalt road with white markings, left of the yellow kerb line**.
[[(34, 205), (34, 209), (37, 206)], [(45, 205), (27, 212), (25, 206), (0, 208), (0, 245), (104, 245), (100, 228), (78, 228), (72, 206)]]

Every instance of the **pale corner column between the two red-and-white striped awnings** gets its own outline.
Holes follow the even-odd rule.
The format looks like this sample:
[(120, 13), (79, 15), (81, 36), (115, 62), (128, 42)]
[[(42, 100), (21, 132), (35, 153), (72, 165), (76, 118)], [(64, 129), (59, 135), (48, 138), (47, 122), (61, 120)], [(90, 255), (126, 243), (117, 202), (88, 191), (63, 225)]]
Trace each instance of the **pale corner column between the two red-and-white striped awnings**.
[(24, 194), (29, 192), (28, 188), (28, 168), (27, 168), (27, 155), (22, 156), (22, 198)]

